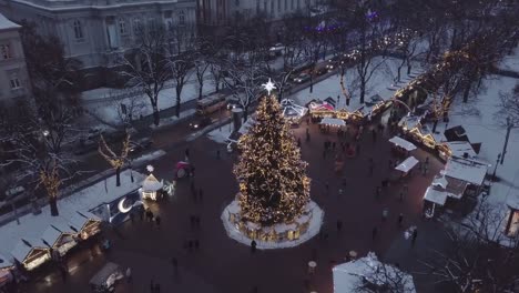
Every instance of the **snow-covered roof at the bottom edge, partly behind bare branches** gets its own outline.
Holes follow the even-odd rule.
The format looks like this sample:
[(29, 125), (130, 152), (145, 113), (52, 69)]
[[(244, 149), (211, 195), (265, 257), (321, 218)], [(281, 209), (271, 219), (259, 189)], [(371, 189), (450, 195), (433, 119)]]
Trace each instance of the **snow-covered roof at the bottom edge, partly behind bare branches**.
[[(381, 269), (383, 272), (376, 275), (378, 269)], [(416, 293), (415, 283), (410, 274), (401, 272), (393, 265), (381, 263), (373, 252), (356, 261), (336, 265), (332, 271), (335, 293), (357, 292), (363, 285), (364, 279), (378, 284), (381, 284), (386, 279), (388, 284), (393, 284), (393, 280), (388, 280), (388, 276), (395, 279), (396, 276), (401, 277), (403, 293)]]

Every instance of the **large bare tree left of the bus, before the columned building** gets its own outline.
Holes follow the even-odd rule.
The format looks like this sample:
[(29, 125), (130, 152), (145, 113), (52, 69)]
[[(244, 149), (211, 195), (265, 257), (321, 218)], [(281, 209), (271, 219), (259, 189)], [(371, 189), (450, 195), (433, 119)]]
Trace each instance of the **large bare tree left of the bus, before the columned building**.
[(163, 26), (140, 29), (138, 48), (132, 54), (122, 55), (121, 74), (128, 79), (126, 84), (142, 90), (150, 99), (153, 109), (153, 123), (159, 125), (159, 94), (171, 77), (166, 58), (166, 32)]

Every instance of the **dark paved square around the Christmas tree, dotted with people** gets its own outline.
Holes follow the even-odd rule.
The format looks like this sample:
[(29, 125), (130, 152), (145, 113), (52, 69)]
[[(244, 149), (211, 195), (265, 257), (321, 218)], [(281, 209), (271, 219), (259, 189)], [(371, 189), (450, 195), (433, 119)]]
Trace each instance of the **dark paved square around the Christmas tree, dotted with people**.
[[(322, 134), (317, 125), (309, 125), (312, 140), (305, 142), (305, 129), (303, 123), (294, 129), (294, 133), (302, 138), (303, 158), (309, 163), (312, 198), (325, 211), (323, 229), (327, 240), (315, 238), (294, 249), (258, 251), (256, 254), (252, 254), (248, 246), (231, 240), (225, 234), (220, 215), (237, 191), (231, 172), (234, 159), (225, 153), (225, 145), (204, 137), (189, 145), (177, 145), (153, 163), (157, 178), (171, 180), (175, 162), (182, 160), (185, 148), (190, 148), (196, 166), (195, 186), (204, 191), (201, 202), (193, 200), (189, 180), (180, 181), (174, 198), (150, 205), (162, 219), (160, 228), (154, 223), (140, 222), (139, 219), (135, 223), (126, 222), (116, 230), (118, 233), (108, 232), (108, 236), (113, 240), (110, 253), (86, 262), (73, 256), (70, 266), (74, 267), (74, 263), (81, 265), (71, 272), (65, 282), (54, 273), (53, 279), (42, 277), (28, 284), (22, 292), (88, 292), (88, 281), (105, 260), (132, 267), (133, 283), (120, 286), (119, 292), (150, 292), (150, 282), (153, 280), (161, 284), (162, 292), (251, 292), (257, 285), (260, 292), (307, 292), (307, 287), (311, 287), (319, 293), (332, 293), (332, 264), (342, 262), (349, 250), (359, 252), (359, 255), (368, 251), (375, 251), (381, 256), (388, 251), (394, 252), (388, 259), (391, 256), (391, 262), (401, 262), (406, 269), (407, 263), (400, 260), (406, 253), (395, 252), (398, 251), (395, 247), (401, 246), (395, 243), (403, 242), (404, 230), (409, 225), (421, 226), (421, 196), (441, 164), (430, 156), (428, 176), (416, 173), (408, 183), (409, 193), (403, 202), (398, 200), (401, 183), (387, 188), (380, 199), (376, 199), (376, 185), (388, 178), (390, 172), (389, 134), (384, 134), (384, 139), (378, 135), (374, 143), (370, 132), (366, 131), (360, 143), (360, 155), (347, 159), (344, 173), (337, 175), (333, 171), (332, 154), (323, 159), (324, 141), (337, 140), (337, 137)], [(216, 158), (217, 148), (222, 150), (220, 160)], [(428, 154), (418, 150), (414, 155), (425, 160)], [(375, 161), (373, 175), (369, 175), (368, 158)], [(338, 195), (343, 175), (347, 179), (347, 186), (344, 194)], [(385, 208), (389, 209), (389, 218), (383, 222), (381, 211)], [(399, 213), (405, 215), (403, 228), (397, 225)], [(191, 228), (190, 215), (193, 214), (201, 216), (201, 229)], [(339, 233), (336, 230), (338, 220), (344, 223)], [(378, 228), (375, 241), (372, 240), (374, 226)], [(421, 233), (419, 238), (418, 243)], [(190, 252), (185, 243), (195, 239), (200, 242), (200, 250)], [(173, 276), (170, 263), (172, 257), (179, 261), (180, 280)], [(317, 262), (314, 275), (307, 274), (309, 260)]]

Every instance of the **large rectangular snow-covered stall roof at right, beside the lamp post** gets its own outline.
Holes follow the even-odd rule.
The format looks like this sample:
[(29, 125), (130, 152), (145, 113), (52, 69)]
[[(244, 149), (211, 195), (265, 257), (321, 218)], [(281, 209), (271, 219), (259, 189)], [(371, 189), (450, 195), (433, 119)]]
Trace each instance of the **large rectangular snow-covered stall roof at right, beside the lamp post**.
[(450, 159), (445, 166), (445, 175), (481, 185), (487, 175), (488, 165), (465, 159)]

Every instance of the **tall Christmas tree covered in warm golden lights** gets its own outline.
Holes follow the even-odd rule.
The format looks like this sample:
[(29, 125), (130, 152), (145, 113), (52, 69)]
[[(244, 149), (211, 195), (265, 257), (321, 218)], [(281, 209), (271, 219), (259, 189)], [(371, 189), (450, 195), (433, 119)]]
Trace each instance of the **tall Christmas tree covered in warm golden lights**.
[(265, 226), (298, 218), (309, 202), (311, 181), (275, 97), (262, 98), (256, 122), (238, 148), (242, 155), (234, 174), (242, 220)]

